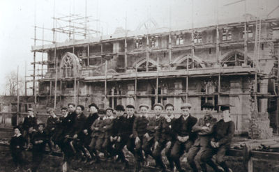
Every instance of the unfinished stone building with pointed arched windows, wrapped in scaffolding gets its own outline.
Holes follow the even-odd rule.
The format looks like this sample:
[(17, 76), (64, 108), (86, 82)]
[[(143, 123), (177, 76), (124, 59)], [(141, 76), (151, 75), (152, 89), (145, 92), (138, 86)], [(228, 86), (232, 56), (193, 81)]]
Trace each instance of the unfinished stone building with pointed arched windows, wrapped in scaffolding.
[[(75, 17), (59, 19), (73, 22)], [(59, 111), (69, 102), (84, 107), (95, 102), (100, 108), (160, 102), (173, 103), (179, 111), (190, 102), (199, 117), (202, 104), (212, 102), (216, 114), (218, 104), (234, 106), (236, 133), (248, 132), (254, 111), (267, 112), (276, 129), (279, 18), (247, 18), (185, 29), (142, 29), (146, 25), (141, 24), (135, 31), (94, 37), (86, 27), (54, 25), (52, 44), (32, 47), (36, 109)], [(69, 35), (66, 42), (56, 42), (59, 31)], [(84, 39), (75, 39), (79, 33)], [(47, 59), (39, 61), (38, 54)], [(40, 77), (37, 65), (46, 70)]]

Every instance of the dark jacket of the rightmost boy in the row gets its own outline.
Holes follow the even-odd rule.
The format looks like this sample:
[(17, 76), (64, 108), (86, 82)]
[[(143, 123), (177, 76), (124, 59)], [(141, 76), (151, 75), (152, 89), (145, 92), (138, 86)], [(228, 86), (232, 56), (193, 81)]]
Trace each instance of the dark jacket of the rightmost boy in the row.
[(234, 137), (234, 130), (234, 121), (225, 123), (223, 119), (219, 120), (213, 126), (213, 141), (218, 142), (219, 145), (229, 145)]

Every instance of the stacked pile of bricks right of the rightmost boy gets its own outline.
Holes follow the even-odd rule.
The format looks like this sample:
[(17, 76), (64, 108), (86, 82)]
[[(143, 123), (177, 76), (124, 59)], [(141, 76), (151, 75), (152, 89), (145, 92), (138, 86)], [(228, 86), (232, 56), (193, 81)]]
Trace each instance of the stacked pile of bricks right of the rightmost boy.
[(270, 139), (273, 135), (272, 133), (269, 114), (253, 111), (250, 120), (249, 137), (251, 139)]

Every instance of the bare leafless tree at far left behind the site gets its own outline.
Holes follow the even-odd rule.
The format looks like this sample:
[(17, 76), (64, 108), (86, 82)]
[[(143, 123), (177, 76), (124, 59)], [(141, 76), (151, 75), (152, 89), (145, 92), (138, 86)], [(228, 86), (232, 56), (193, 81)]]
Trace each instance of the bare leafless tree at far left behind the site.
[[(17, 95), (17, 72), (12, 71), (5, 77), (6, 79), (6, 95)], [(18, 76), (18, 86), (20, 94), (24, 93), (24, 79)]]

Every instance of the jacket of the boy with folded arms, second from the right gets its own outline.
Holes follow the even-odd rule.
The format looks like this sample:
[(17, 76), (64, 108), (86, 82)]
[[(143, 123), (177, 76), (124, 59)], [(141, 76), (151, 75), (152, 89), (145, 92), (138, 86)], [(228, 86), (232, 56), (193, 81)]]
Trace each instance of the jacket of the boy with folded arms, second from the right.
[[(199, 118), (197, 123), (193, 126), (193, 132), (197, 133), (197, 139), (194, 146), (209, 146), (212, 138), (213, 126), (216, 124), (216, 118), (212, 115), (204, 115), (203, 118)], [(202, 130), (202, 127), (209, 127), (209, 132)]]

